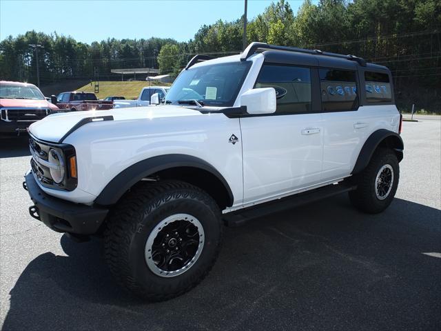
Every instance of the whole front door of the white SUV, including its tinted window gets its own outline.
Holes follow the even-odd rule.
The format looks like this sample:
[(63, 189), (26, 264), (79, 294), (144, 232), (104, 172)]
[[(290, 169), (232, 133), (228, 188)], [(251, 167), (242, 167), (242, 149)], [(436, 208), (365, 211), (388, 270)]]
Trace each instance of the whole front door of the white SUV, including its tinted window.
[(255, 88), (274, 88), (277, 110), (240, 118), (244, 203), (265, 201), (320, 181), (322, 115), (316, 106), (320, 96), (312, 97), (312, 72), (309, 67), (263, 65)]

